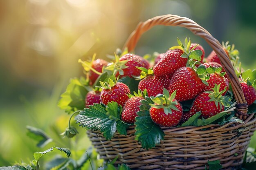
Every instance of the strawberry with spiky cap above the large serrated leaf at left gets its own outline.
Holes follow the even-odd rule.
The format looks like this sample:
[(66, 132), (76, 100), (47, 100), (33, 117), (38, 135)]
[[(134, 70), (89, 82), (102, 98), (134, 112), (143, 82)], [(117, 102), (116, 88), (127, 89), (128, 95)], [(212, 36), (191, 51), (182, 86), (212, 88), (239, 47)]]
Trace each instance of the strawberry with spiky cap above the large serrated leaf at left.
[(100, 102), (108, 104), (108, 102), (114, 101), (124, 106), (126, 100), (129, 98), (127, 94), (130, 93), (130, 89), (126, 84), (117, 82), (116, 78), (113, 81), (110, 77), (108, 78), (108, 82), (100, 82), (100, 84), (101, 88), (103, 88), (100, 95)]

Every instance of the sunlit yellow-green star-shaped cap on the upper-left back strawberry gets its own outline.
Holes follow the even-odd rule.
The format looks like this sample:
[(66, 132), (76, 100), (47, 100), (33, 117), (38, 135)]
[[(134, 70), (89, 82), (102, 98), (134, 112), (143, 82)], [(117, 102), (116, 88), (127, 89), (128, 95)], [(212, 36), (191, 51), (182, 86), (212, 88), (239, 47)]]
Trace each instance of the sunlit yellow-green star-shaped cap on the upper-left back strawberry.
[(117, 72), (119, 75), (124, 75), (124, 68), (128, 68), (129, 66), (126, 66), (125, 64), (128, 62), (128, 60), (119, 60), (120, 57), (115, 53), (115, 61), (112, 61), (108, 66), (105, 68), (105, 70), (111, 71), (112, 75), (116, 75)]

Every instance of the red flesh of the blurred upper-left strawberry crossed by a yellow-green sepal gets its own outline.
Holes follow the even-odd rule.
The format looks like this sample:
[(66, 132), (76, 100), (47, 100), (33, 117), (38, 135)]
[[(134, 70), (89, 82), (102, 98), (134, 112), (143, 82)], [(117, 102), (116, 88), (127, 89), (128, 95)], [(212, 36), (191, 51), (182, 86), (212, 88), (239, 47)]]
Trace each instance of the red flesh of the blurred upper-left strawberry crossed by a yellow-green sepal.
[[(107, 65), (108, 65), (108, 62), (102, 59), (97, 59), (92, 62), (92, 68), (94, 68), (96, 71), (100, 73), (102, 73), (103, 66), (107, 66)], [(98, 77), (99, 77), (99, 74), (90, 70), (89, 72), (90, 85), (94, 84), (94, 82)]]

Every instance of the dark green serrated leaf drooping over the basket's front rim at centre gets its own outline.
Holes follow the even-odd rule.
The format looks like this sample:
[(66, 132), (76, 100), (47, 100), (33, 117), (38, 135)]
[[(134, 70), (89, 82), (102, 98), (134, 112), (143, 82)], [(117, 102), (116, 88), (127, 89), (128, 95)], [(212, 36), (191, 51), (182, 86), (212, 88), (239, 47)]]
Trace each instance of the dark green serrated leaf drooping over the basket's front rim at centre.
[(164, 131), (150, 117), (149, 103), (153, 104), (153, 101), (146, 97), (141, 103), (140, 111), (137, 112), (138, 116), (135, 117), (135, 140), (141, 142), (142, 148), (151, 149), (159, 144), (160, 140), (164, 140)]

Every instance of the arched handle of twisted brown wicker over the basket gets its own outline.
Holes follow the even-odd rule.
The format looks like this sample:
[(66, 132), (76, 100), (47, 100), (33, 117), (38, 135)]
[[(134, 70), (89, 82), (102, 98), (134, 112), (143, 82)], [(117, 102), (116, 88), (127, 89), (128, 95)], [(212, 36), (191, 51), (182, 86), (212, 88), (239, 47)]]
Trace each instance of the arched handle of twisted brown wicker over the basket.
[(238, 111), (238, 115), (240, 115), (239, 118), (245, 120), (247, 118), (248, 105), (245, 101), (242, 87), (238, 78), (236, 77), (236, 73), (229, 60), (229, 57), (227, 56), (227, 53), (225, 53), (222, 45), (220, 42), (218, 42), (218, 40), (213, 38), (213, 36), (207, 30), (205, 30), (202, 26), (198, 25), (193, 20), (186, 17), (169, 14), (157, 16), (145, 22), (140, 22), (137, 25), (137, 28), (130, 34), (124, 47), (127, 47), (128, 51), (133, 51), (141, 35), (156, 25), (185, 27), (195, 35), (202, 37), (211, 46), (211, 48), (220, 58), (220, 62), (227, 72), (229, 82), (231, 83), (234, 92), (234, 97), (237, 101), (236, 110)]

